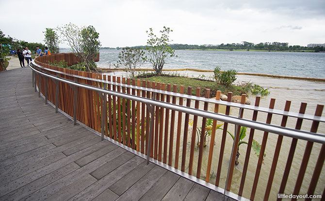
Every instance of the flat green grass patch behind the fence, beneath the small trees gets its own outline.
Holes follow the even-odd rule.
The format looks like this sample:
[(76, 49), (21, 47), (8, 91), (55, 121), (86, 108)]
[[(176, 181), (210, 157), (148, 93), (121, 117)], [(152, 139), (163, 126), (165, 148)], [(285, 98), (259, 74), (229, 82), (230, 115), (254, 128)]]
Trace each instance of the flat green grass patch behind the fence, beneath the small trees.
[(245, 92), (246, 90), (245, 87), (240, 87), (236, 85), (230, 85), (226, 87), (225, 85), (217, 84), (215, 81), (191, 78), (191, 77), (179, 77), (179, 76), (171, 76), (166, 74), (156, 75), (151, 73), (151, 74), (144, 74), (144, 75), (137, 76), (136, 79), (166, 83), (166, 85), (176, 84), (178, 93), (179, 93), (179, 87), (181, 85), (184, 86), (184, 93), (186, 94), (187, 94), (187, 88), (192, 87), (192, 95), (196, 95), (196, 88), (201, 88), (201, 93), (200, 93), (201, 97), (205, 96), (206, 89), (210, 89), (211, 98), (215, 97), (217, 91), (221, 91), (221, 93), (225, 93), (226, 95), (228, 92), (232, 92), (232, 95), (241, 95), (242, 93), (248, 93)]

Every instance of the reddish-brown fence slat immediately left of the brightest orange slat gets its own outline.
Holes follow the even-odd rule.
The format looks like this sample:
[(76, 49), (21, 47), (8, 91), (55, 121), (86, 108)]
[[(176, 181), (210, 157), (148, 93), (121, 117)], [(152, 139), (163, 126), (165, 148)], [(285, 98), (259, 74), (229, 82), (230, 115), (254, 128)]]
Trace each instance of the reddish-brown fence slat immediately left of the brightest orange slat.
[[(205, 97), (210, 97), (210, 89), (205, 90)], [(208, 110), (209, 103), (204, 102), (204, 110)], [(201, 139), (200, 139), (200, 145), (199, 145), (199, 153), (198, 153), (198, 159), (197, 159), (197, 170), (196, 170), (196, 178), (201, 177), (201, 168), (202, 168), (202, 157), (203, 157), (203, 146), (204, 146), (204, 137), (205, 137), (205, 127), (207, 124), (207, 118), (203, 117), (202, 119), (202, 129), (201, 129)]]

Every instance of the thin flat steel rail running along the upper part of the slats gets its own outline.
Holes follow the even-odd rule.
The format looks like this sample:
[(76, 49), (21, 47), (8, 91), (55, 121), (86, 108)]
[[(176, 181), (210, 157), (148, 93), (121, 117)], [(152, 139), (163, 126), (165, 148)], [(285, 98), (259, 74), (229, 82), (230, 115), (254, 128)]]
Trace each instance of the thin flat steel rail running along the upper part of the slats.
[(277, 115), (281, 115), (281, 116), (288, 116), (288, 117), (300, 118), (300, 119), (311, 120), (311, 121), (325, 122), (325, 117), (313, 116), (313, 115), (309, 115), (309, 114), (301, 114), (301, 113), (290, 112), (290, 111), (283, 111), (283, 110), (279, 110), (279, 109), (263, 108), (263, 107), (245, 105), (245, 104), (240, 104), (240, 103), (232, 103), (232, 102), (227, 102), (227, 101), (215, 100), (215, 99), (211, 99), (211, 98), (198, 97), (198, 96), (194, 96), (194, 95), (174, 93), (174, 92), (151, 89), (151, 88), (146, 88), (146, 87), (138, 87), (138, 86), (128, 85), (128, 84), (121, 84), (121, 83), (116, 83), (116, 82), (102, 80), (102, 79), (96, 79), (96, 78), (90, 78), (90, 77), (82, 77), (82, 76), (78, 76), (78, 75), (64, 73), (62, 71), (45, 68), (41, 65), (36, 64), (35, 62), (33, 62), (33, 64), (39, 68), (42, 68), (44, 70), (47, 70), (47, 71), (50, 71), (53, 73), (59, 73), (61, 75), (65, 75), (65, 76), (77, 77), (77, 78), (81, 78), (81, 79), (111, 84), (111, 85), (120, 86), (120, 87), (126, 87), (126, 88), (130, 88), (130, 89), (135, 89), (135, 90), (143, 90), (143, 91), (152, 92), (152, 93), (161, 93), (164, 95), (189, 98), (191, 100), (198, 100), (198, 101), (202, 101), (202, 102), (208, 102), (208, 103), (212, 103), (212, 104), (219, 104), (219, 105), (235, 107), (235, 108), (256, 110), (256, 111), (260, 111), (260, 112), (272, 113), (272, 114), (277, 114)]

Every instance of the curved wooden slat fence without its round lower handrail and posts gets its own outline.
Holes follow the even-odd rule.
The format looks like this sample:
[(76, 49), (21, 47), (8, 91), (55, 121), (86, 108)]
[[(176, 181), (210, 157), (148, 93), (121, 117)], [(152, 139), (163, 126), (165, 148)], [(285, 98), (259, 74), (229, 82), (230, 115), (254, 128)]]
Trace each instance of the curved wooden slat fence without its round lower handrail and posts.
[[(258, 120), (258, 116), (261, 116), (264, 117), (262, 118), (265, 121), (264, 123), (272, 125), (272, 118), (277, 116), (280, 124), (276, 126), (282, 128), (286, 128), (289, 117), (291, 122), (295, 123), (295, 127), (292, 129), (299, 132), (303, 122), (310, 122), (310, 130), (301, 132), (309, 135), (315, 133), (315, 136), (325, 138), (324, 133), (317, 133), (320, 124), (324, 128), (325, 119), (320, 117), (323, 113), (323, 105), (317, 106), (314, 115), (304, 115), (307, 107), (305, 103), (301, 104), (299, 113), (290, 113), (290, 101), (287, 101), (284, 110), (280, 111), (274, 109), (275, 99), (271, 99), (269, 109), (259, 107), (260, 97), (257, 96), (255, 106), (249, 108), (241, 104), (230, 103), (231, 93), (228, 93), (228, 103), (223, 104), (225, 106), (217, 104), (220, 102), (214, 103), (210, 99), (211, 105), (207, 101), (208, 99), (191, 96), (192, 90), (195, 90), (197, 96), (199, 96), (199, 88), (192, 89), (189, 87), (186, 95), (183, 94), (184, 86), (81, 72), (47, 64), (48, 61), (53, 62), (54, 60), (65, 60), (69, 65), (77, 62), (76, 57), (71, 53), (53, 54), (36, 58), (35, 63), (42, 66), (36, 68), (47, 74), (81, 84), (154, 99), (173, 105), (196, 108), (202, 111), (211, 110), (209, 107), (212, 106), (212, 111), (215, 113), (220, 113), (221, 110), (226, 116), (236, 113), (239, 119), (245, 118), (243, 117), (245, 111), (248, 115), (251, 115), (252, 122), (261, 122)], [(55, 104), (56, 84), (51, 79), (46, 80), (47, 78), (36, 75), (37, 86), (40, 88), (41, 93), (47, 95), (49, 101)], [(100, 80), (110, 82), (107, 84), (107, 82), (101, 82)], [(127, 85), (120, 85), (119, 83)], [(60, 82), (58, 86), (58, 107), (73, 117), (74, 91), (66, 83)], [(177, 93), (178, 88), (180, 93)], [(157, 106), (154, 107), (154, 117), (152, 117), (145, 103), (104, 95), (107, 105), (103, 106), (103, 99), (100, 98), (100, 94), (83, 88), (77, 88), (77, 91), (76, 117), (79, 122), (98, 132), (101, 132), (103, 126), (107, 137), (140, 153), (147, 154), (148, 125), (150, 118), (154, 118), (154, 132), (151, 136), (152, 146), (149, 150), (152, 158), (202, 179), (207, 185), (210, 183), (225, 188), (227, 192), (239, 195), (235, 197), (237, 199), (242, 199), (243, 196), (250, 200), (274, 200), (277, 196), (275, 193), (323, 194), (323, 199), (325, 199), (324, 143), (298, 140), (247, 128), (249, 139), (246, 142), (246, 150), (243, 152), (245, 154), (241, 156), (241, 164), (236, 166), (235, 161), (238, 160), (239, 156), (237, 150), (239, 150), (238, 147), (241, 143), (240, 132), (242, 129), (240, 125), (234, 126), (227, 122), (213, 120), (212, 125), (207, 126), (207, 121), (210, 121), (207, 118)], [(210, 90), (206, 90), (205, 97), (208, 98), (209, 96)], [(220, 92), (218, 91), (215, 99), (219, 100), (219, 98)], [(244, 101), (245, 95), (242, 95), (242, 103)], [(105, 107), (107, 113), (104, 115), (104, 124), (102, 124), (101, 120), (103, 107)], [(230, 138), (228, 132), (236, 134), (233, 135), (234, 140)], [(206, 133), (210, 134), (207, 135), (210, 144), (206, 142)], [(255, 138), (261, 140), (260, 144), (256, 144)], [(271, 140), (271, 142), (267, 146), (268, 140)], [(260, 146), (258, 157), (252, 153), (251, 147), (254, 144)], [(234, 152), (231, 152), (231, 146), (234, 147)], [(265, 157), (266, 149), (271, 151)], [(279, 165), (281, 165), (281, 168), (279, 168)], [(295, 169), (295, 172), (293, 169)], [(274, 182), (275, 180), (277, 182)], [(290, 182), (290, 185), (287, 185), (288, 182)]]

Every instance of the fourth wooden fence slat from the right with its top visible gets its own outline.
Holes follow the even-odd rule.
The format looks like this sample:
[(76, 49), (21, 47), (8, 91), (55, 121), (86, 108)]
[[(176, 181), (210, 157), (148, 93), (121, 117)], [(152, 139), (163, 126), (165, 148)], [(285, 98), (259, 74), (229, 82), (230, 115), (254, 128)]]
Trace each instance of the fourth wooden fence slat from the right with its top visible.
[[(271, 98), (270, 107), (269, 107), (270, 109), (274, 109), (275, 102), (276, 102), (276, 99)], [(268, 113), (267, 118), (266, 118), (266, 124), (271, 124), (271, 120), (272, 120), (272, 113)], [(259, 156), (259, 160), (257, 163), (257, 168), (256, 168), (256, 172), (255, 172), (255, 178), (254, 178), (252, 192), (250, 195), (250, 200), (254, 200), (254, 198), (255, 198), (256, 188), (257, 188), (257, 184), (258, 184), (259, 178), (260, 178), (260, 169), (261, 169), (261, 166), (263, 163), (264, 151), (265, 151), (265, 147), (266, 147), (268, 134), (269, 134), (269, 132), (264, 131), (262, 144), (260, 147), (260, 156)]]

